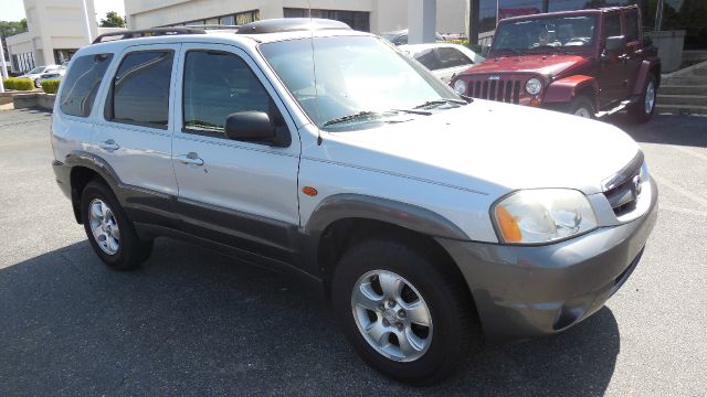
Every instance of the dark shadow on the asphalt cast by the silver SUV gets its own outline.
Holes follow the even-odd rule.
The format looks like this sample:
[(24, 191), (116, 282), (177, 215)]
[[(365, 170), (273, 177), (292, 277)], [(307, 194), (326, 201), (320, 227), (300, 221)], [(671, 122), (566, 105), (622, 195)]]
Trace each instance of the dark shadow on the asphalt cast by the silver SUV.
[(366, 366), (320, 299), (287, 277), (158, 239), (137, 271), (77, 243), (0, 269), (0, 395), (602, 395), (608, 308), (552, 337), (488, 348), (442, 385)]

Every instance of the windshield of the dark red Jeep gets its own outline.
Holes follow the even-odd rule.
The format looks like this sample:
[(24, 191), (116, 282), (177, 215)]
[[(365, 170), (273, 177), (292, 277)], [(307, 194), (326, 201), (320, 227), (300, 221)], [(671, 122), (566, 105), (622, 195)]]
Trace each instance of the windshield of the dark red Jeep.
[(566, 15), (507, 21), (498, 25), (493, 56), (571, 52), (594, 44), (594, 15)]

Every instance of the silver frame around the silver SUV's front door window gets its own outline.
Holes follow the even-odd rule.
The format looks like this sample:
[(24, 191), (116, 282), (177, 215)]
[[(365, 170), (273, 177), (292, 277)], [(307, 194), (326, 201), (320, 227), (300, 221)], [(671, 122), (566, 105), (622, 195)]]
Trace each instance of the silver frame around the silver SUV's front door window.
[[(255, 148), (268, 148), (263, 142), (249, 142), (230, 139), (225, 136), (224, 132), (212, 132), (212, 131), (200, 131), (192, 130), (184, 126), (184, 77), (186, 77), (186, 65), (187, 65), (187, 54), (192, 51), (198, 52), (221, 52), (229, 55), (236, 56), (241, 58), (247, 67), (250, 67), (251, 72), (257, 79), (258, 84), (265, 89), (265, 93), (270, 96), (270, 99), (273, 100), (275, 107), (279, 111), (279, 115), (284, 122), (285, 133), (287, 133), (291, 138), (291, 144), (288, 147), (277, 147), (272, 149), (288, 149), (295, 144), (295, 139), (299, 139), (298, 135), (294, 131), (297, 131), (296, 124), (294, 122), (293, 116), (289, 112), (287, 106), (285, 106), (285, 101), (281, 97), (279, 93), (275, 89), (272, 83), (267, 79), (265, 73), (262, 71), (261, 65), (258, 65), (253, 57), (245, 52), (243, 49), (230, 45), (230, 44), (217, 44), (217, 43), (186, 43), (182, 45), (179, 55), (179, 69), (176, 79), (179, 82), (178, 89), (172, 93), (175, 100), (175, 111), (173, 114), (173, 122), (175, 122), (175, 132), (180, 135), (182, 138), (190, 137), (189, 139), (207, 139), (209, 141), (217, 142), (219, 144), (223, 144), (228, 142), (233, 146), (253, 146)], [(179, 106), (177, 106), (179, 104)]]

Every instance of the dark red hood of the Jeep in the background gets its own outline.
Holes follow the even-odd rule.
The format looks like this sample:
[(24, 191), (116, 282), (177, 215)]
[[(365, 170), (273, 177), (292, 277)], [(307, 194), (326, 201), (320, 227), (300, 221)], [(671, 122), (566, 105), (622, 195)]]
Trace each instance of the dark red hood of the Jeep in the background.
[(580, 68), (589, 61), (579, 55), (516, 55), (487, 58), (474, 66), (463, 76), (494, 74), (494, 73), (538, 73), (544, 76), (555, 77), (571, 68)]

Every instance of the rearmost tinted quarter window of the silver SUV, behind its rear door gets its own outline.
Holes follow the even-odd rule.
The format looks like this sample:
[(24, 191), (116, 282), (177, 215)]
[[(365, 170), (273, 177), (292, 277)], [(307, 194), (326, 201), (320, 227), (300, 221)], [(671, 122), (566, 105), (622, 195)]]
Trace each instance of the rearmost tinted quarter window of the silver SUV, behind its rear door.
[(113, 60), (113, 54), (84, 55), (77, 57), (62, 82), (59, 104), (66, 115), (88, 117), (103, 76)]

